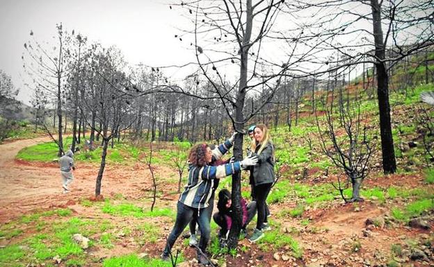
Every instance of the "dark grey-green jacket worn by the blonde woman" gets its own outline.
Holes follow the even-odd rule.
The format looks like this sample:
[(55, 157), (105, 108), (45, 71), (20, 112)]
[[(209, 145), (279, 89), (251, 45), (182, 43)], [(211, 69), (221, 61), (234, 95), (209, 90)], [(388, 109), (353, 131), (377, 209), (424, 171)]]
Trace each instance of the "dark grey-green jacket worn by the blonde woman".
[(268, 142), (264, 150), (258, 155), (260, 147), (258, 145), (255, 153), (252, 153), (259, 159), (258, 163), (253, 166), (253, 182), (255, 182), (255, 186), (274, 182), (274, 145)]

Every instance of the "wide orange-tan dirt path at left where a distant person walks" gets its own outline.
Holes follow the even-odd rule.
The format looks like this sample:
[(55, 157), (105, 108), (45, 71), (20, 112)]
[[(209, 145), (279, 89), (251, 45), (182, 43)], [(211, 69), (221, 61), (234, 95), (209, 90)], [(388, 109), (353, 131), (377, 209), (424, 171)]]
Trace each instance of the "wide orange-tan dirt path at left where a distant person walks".
[[(0, 145), (0, 222), (31, 210), (62, 206), (68, 200), (74, 200), (74, 203), (94, 195), (99, 166), (77, 164), (75, 179), (70, 185), (71, 193), (63, 194), (58, 164), (15, 160), (22, 148), (46, 141), (49, 141), (49, 137), (22, 139)], [(144, 166), (107, 166), (104, 171), (102, 194), (105, 196), (122, 193), (122, 196), (141, 198), (149, 188), (150, 178)]]

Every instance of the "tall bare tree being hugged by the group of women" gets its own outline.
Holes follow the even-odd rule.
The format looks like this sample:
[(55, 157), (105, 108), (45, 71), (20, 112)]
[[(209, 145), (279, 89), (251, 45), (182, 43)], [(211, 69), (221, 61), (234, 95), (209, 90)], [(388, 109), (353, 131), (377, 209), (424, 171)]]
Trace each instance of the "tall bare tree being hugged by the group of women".
[[(281, 4), (282, 1), (252, 3), (251, 0), (241, 3), (229, 0), (182, 3), (182, 8), (192, 15), (194, 30), (189, 33), (192, 33), (194, 38), (192, 45), (195, 47), (198, 74), (204, 76), (211, 85), (214, 93), (211, 98), (220, 99), (236, 132), (244, 132), (244, 124), (271, 101), (273, 94), (279, 88), (280, 74), (282, 74), (280, 63), (276, 73), (262, 72), (275, 65), (259, 54), (262, 52), (262, 42), (271, 33)], [(220, 75), (219, 70), (235, 62), (239, 66), (239, 74), (236, 85), (231, 86), (225, 83), (225, 78)], [(252, 64), (250, 69), (249, 62)], [(253, 94), (262, 85), (267, 88), (263, 98), (264, 103), (253, 107), (250, 114), (244, 114), (246, 95), (248, 92)], [(203, 96), (200, 98), (203, 99)], [(243, 135), (237, 135), (234, 142), (236, 160), (242, 158), (242, 147)], [(234, 216), (228, 246), (236, 248), (241, 230), (240, 173), (232, 176), (232, 203), (236, 216)]]

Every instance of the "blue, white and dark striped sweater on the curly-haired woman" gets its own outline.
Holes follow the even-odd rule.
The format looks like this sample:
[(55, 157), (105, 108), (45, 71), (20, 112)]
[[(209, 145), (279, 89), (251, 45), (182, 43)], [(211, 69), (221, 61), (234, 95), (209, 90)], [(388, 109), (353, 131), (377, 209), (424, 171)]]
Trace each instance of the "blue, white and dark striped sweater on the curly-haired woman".
[[(212, 151), (212, 162), (219, 160), (231, 147), (232, 143), (229, 140), (216, 147)], [(179, 196), (179, 202), (196, 209), (208, 207), (209, 199), (212, 195), (211, 189), (214, 186), (214, 182), (216, 182), (215, 180), (224, 178), (240, 170), (240, 162), (219, 166), (205, 165), (202, 167), (190, 164), (188, 166), (188, 183), (184, 188), (184, 192)]]

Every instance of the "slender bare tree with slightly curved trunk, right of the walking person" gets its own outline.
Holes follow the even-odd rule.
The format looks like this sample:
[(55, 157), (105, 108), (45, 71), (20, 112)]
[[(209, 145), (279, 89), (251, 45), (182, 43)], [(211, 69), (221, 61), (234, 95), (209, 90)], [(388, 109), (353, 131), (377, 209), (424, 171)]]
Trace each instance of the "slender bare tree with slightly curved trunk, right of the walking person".
[(85, 114), (95, 117), (95, 121), (86, 122), (88, 127), (102, 138), (101, 164), (95, 186), (95, 196), (99, 196), (109, 141), (130, 128), (133, 123), (130, 105), (132, 96), (124, 92), (127, 79), (122, 71), (124, 61), (120, 51), (113, 47), (97, 50), (88, 60), (88, 64), (95, 71), (95, 76), (91, 77), (93, 80), (87, 82), (93, 89), (83, 98), (81, 108)]

